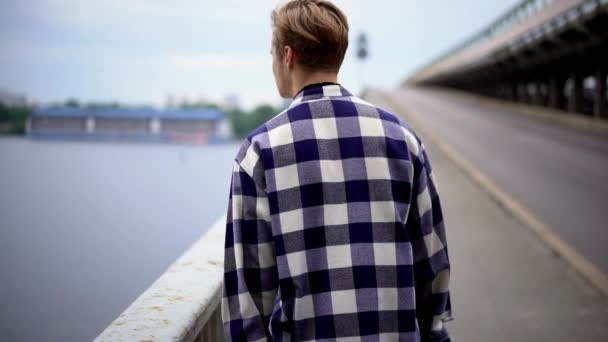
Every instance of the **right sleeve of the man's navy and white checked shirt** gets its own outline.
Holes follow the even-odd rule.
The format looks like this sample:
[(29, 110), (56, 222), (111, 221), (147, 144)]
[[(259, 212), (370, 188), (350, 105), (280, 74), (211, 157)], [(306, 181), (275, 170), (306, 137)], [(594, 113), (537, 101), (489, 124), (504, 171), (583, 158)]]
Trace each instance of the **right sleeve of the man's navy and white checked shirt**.
[(437, 185), (422, 144), (414, 159), (412, 189), (406, 229), (414, 252), (416, 317), (422, 341), (450, 341), (444, 326), (453, 319), (447, 239)]

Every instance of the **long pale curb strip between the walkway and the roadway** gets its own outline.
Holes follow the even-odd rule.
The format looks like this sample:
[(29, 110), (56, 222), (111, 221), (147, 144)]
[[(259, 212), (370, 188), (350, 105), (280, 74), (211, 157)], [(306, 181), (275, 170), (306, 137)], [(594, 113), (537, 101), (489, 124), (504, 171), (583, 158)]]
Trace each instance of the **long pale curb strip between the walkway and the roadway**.
[(545, 243), (555, 254), (565, 260), (574, 271), (585, 279), (593, 288), (603, 296), (608, 297), (608, 276), (604, 272), (587, 258), (579, 254), (570, 246), (570, 244), (554, 233), (554, 230), (542, 222), (536, 215), (526, 209), (513, 197), (509, 196), (494, 181), (466, 160), (458, 151), (447, 143), (444, 143), (429, 129), (414, 119), (412, 115), (409, 115), (408, 110), (398, 104), (391, 95), (379, 91), (376, 91), (375, 93), (383, 98), (387, 105), (393, 107), (392, 109), (396, 114), (401, 114), (406, 117), (408, 122), (425, 136), (425, 139), (437, 146), (450, 161), (456, 164), (458, 168), (481, 186), (482, 189), (487, 191), (495, 201), (501, 204), (514, 217), (519, 219), (527, 228), (532, 230), (543, 243)]

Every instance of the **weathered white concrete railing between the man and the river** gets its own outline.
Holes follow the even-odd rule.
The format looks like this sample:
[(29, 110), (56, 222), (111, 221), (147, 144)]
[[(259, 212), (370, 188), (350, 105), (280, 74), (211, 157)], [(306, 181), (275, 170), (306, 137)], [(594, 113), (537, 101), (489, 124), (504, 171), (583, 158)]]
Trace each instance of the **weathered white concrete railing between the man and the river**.
[(225, 222), (216, 221), (95, 341), (224, 341)]

